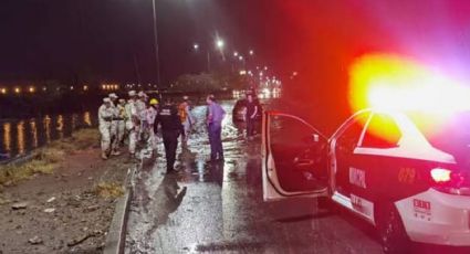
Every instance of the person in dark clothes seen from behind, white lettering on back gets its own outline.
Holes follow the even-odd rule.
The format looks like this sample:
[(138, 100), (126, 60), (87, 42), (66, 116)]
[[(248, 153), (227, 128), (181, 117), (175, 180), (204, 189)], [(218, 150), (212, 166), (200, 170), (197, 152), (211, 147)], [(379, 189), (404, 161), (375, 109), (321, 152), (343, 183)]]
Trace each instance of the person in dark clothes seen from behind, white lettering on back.
[(176, 149), (178, 147), (178, 137), (182, 131), (181, 119), (178, 116), (178, 108), (171, 99), (166, 99), (165, 104), (158, 109), (155, 118), (154, 130), (158, 131), (161, 126), (161, 137), (165, 146), (165, 157), (167, 160), (167, 173), (175, 172)]

